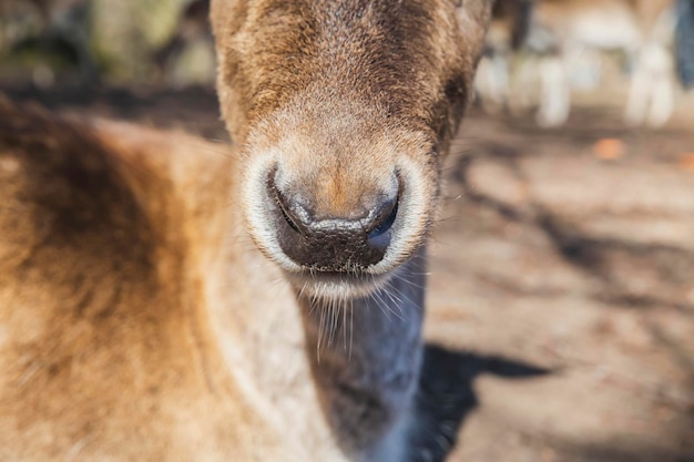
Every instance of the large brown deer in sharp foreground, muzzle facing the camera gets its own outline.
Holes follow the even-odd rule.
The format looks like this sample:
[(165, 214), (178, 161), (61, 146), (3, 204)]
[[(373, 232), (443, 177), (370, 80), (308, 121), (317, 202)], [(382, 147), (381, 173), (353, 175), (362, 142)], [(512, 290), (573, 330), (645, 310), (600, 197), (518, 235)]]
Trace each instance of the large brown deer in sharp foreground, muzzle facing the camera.
[(232, 144), (0, 100), (0, 460), (417, 460), (486, 0), (213, 0)]

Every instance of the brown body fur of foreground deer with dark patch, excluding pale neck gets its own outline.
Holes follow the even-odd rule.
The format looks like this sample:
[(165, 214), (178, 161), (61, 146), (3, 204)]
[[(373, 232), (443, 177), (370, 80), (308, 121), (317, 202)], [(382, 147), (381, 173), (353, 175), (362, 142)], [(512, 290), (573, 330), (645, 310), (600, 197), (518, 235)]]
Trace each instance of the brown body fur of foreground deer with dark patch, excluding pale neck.
[(217, 460), (272, 440), (226, 424), (262, 419), (204, 341), (196, 242), (226, 211), (224, 151), (7, 101), (0, 121), (0, 460)]

